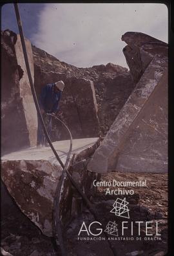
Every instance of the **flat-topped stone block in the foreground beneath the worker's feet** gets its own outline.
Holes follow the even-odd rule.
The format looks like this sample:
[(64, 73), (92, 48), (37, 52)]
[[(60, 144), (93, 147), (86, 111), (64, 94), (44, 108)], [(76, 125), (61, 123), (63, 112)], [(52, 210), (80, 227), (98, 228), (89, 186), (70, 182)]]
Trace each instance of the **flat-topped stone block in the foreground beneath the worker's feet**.
[[(63, 163), (66, 161), (70, 141), (53, 143)], [(97, 174), (88, 172), (84, 162), (99, 146), (98, 138), (73, 140), (70, 173), (88, 196), (94, 192), (92, 182)], [(78, 168), (73, 168), (78, 166)], [(62, 174), (49, 147), (28, 148), (2, 157), (2, 180), (21, 211), (47, 236), (52, 236), (52, 213), (55, 188)], [(67, 222), (79, 211), (81, 197), (73, 189), (68, 178), (64, 180), (61, 192), (61, 219)]]

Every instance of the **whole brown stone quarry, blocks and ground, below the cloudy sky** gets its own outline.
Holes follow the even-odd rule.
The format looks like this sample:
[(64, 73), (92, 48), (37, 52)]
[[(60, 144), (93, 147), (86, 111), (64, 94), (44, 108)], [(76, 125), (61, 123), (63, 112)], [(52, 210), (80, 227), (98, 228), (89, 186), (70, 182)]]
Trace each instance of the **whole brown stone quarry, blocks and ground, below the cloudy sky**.
[[(59, 255), (52, 244), (53, 202), (63, 167), (49, 146), (37, 147), (38, 117), (19, 35), (5, 30), (1, 38), (3, 249), (17, 256)], [(112, 223), (121, 234), (115, 200), (128, 203), (124, 235), (132, 230), (133, 240), (126, 247), (123, 239), (112, 240), (118, 255), (133, 255), (135, 248), (155, 255), (164, 253), (168, 240), (168, 45), (140, 32), (121, 40), (130, 70), (112, 63), (77, 68), (25, 42), (37, 97), (47, 83), (66, 84), (59, 117), (73, 137), (68, 170), (106, 231)], [(70, 140), (61, 123), (53, 120), (50, 137), (65, 163)], [(61, 192), (68, 255), (113, 255), (106, 239), (90, 240), (89, 247), (88, 232), (77, 242), (82, 223), (89, 231), (96, 220), (67, 176)], [(162, 242), (155, 235), (146, 239), (147, 230)]]

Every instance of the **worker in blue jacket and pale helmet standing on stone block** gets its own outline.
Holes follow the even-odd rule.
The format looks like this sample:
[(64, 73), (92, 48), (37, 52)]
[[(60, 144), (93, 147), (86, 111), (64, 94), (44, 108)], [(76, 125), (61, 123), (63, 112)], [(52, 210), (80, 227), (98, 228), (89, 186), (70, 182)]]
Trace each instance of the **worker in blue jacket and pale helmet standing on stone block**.
[[(59, 101), (64, 89), (64, 82), (62, 80), (54, 82), (52, 84), (46, 84), (41, 91), (39, 97), (39, 106), (41, 109), (41, 114), (43, 115), (44, 124), (48, 135), (52, 131), (52, 116), (46, 115), (50, 113), (52, 115), (57, 115), (59, 110)], [(44, 135), (43, 126), (41, 124), (40, 118), (38, 118), (38, 130), (37, 130), (37, 146), (48, 146), (46, 137)]]

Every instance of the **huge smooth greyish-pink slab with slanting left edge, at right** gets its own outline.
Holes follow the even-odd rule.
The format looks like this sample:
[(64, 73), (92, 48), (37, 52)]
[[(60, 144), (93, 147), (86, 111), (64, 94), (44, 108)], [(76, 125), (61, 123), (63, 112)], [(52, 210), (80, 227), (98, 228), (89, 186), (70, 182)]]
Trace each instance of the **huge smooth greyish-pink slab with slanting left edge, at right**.
[(165, 54), (154, 54), (88, 163), (88, 170), (166, 172), (167, 169), (168, 58)]

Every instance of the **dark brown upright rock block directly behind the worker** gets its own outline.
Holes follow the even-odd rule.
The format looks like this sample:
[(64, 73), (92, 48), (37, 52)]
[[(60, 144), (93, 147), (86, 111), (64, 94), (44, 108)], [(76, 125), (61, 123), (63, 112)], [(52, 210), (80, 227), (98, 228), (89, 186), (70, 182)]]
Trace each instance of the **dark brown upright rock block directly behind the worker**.
[[(99, 118), (93, 82), (85, 78), (66, 77), (63, 73), (41, 73), (35, 65), (35, 87), (38, 97), (43, 86), (58, 80), (63, 80), (65, 84), (58, 115), (70, 129), (73, 138), (98, 137)], [(64, 127), (53, 121), (53, 141), (67, 138), (68, 134)]]

